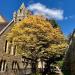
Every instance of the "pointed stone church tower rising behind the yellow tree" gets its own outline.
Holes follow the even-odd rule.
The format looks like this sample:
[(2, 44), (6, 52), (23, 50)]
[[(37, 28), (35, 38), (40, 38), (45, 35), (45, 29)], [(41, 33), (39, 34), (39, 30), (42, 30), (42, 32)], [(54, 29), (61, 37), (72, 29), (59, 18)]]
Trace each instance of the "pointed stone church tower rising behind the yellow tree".
[(24, 3), (22, 3), (21, 7), (17, 12), (13, 13), (13, 20), (14, 22), (19, 22), (23, 20), (24, 18), (28, 17), (28, 15), (31, 15), (31, 12), (26, 9)]

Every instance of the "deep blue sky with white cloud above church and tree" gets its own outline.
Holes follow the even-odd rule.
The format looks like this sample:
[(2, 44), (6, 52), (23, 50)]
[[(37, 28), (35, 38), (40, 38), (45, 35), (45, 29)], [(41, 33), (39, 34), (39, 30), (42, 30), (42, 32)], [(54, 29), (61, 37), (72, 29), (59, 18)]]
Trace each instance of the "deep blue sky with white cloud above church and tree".
[(10, 21), (23, 2), (34, 14), (55, 18), (65, 35), (75, 28), (75, 0), (0, 0), (0, 14)]

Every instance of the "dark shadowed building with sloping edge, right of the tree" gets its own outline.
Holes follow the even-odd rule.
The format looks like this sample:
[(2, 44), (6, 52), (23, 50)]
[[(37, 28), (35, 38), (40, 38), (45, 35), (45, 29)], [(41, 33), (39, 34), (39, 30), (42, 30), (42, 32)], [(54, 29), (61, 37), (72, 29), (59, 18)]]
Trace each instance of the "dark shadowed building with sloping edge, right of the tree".
[(69, 47), (64, 58), (65, 75), (75, 75), (75, 30), (69, 38)]

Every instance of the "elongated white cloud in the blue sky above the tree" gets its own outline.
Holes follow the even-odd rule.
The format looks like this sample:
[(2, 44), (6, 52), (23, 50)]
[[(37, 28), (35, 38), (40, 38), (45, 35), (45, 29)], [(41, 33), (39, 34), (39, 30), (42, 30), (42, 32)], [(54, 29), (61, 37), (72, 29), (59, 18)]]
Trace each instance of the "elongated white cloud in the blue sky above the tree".
[(28, 9), (33, 11), (35, 15), (44, 15), (47, 18), (54, 18), (57, 20), (62, 20), (64, 18), (63, 16), (63, 10), (61, 9), (49, 9), (45, 5), (41, 3), (35, 3), (28, 6)]

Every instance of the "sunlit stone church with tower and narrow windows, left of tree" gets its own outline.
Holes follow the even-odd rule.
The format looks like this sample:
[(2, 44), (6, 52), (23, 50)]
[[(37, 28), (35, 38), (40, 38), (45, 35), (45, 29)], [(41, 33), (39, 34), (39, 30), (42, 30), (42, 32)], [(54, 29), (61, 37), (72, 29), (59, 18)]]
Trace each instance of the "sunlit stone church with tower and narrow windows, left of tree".
[[(23, 3), (20, 9), (13, 13), (12, 21), (8, 24), (5, 23), (4, 27), (0, 30), (0, 75), (25, 75), (24, 59), (22, 56), (17, 55), (15, 44), (6, 40), (6, 34), (10, 32), (15, 23), (29, 15), (31, 15), (31, 12), (26, 9)], [(28, 67), (30, 68), (29, 65)]]

